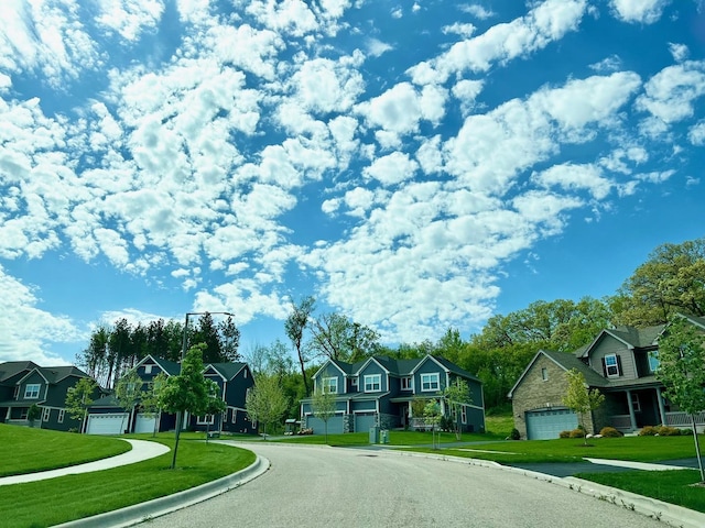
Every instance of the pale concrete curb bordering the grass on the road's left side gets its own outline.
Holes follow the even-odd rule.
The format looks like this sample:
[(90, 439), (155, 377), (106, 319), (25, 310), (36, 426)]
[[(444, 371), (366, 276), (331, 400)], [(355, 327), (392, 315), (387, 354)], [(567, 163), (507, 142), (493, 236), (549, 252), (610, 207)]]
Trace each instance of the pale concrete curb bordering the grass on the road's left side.
[(270, 463), (268, 459), (257, 457), (252, 465), (231, 475), (218, 479), (217, 481), (184, 490), (173, 495), (148, 501), (147, 503), (135, 504), (127, 508), (116, 509), (115, 512), (107, 512), (56, 526), (58, 528), (93, 528), (96, 526), (100, 526), (101, 528), (124, 528), (134, 526), (235, 490), (267, 472)]

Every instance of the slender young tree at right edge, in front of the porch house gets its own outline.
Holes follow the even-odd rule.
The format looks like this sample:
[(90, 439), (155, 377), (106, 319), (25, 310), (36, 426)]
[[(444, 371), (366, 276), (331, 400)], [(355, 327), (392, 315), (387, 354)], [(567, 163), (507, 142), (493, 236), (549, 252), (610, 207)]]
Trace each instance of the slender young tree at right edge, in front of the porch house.
[(665, 385), (665, 396), (691, 415), (701, 482), (705, 482), (695, 428), (695, 415), (705, 410), (705, 334), (684, 317), (673, 317), (659, 340), (659, 362), (657, 378)]

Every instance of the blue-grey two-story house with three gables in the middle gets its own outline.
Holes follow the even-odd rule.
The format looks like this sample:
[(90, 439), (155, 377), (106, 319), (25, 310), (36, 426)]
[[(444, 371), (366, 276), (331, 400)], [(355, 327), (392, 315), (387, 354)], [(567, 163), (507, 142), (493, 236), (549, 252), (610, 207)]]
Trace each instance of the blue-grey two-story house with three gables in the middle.
[[(414, 427), (414, 400), (438, 399), (456, 380), (469, 388), (460, 411), (466, 431), (485, 430), (485, 404), (480, 380), (444, 358), (426, 355), (414, 360), (373, 356), (355, 364), (328, 360), (313, 375), (314, 391), (336, 394), (336, 413), (327, 424), (329, 433)], [(324, 431), (324, 422), (314, 416), (312, 398), (301, 400), (301, 424)]]

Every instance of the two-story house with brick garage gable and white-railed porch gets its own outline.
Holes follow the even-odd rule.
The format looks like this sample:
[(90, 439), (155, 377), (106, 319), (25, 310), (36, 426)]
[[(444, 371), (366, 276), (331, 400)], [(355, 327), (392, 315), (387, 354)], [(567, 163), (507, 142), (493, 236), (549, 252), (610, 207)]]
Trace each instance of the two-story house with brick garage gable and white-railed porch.
[[(705, 318), (686, 317), (705, 331)], [(655, 376), (659, 338), (665, 324), (603, 330), (575, 353), (539, 351), (509, 393), (514, 427), (530, 440), (558, 438), (575, 429), (577, 416), (564, 404), (566, 372), (576, 369), (590, 389), (605, 395), (605, 405), (585, 419), (588, 433), (605, 426), (632, 432), (644, 426), (687, 427), (688, 418), (668, 398)], [(698, 417), (705, 424), (705, 415)]]

